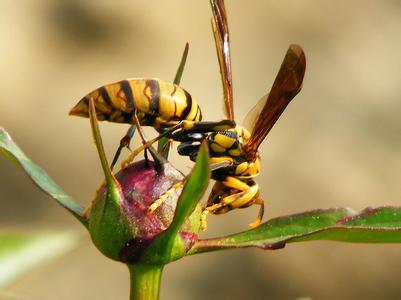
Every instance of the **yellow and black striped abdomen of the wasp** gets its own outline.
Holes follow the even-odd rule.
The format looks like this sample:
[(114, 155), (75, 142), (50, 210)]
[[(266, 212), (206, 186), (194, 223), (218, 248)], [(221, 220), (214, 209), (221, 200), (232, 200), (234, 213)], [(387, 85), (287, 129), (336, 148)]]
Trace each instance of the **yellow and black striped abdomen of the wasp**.
[(101, 86), (82, 98), (70, 115), (88, 118), (91, 97), (98, 119), (109, 122), (132, 124), (134, 112), (142, 125), (156, 128), (202, 119), (198, 104), (187, 91), (159, 79), (135, 78)]

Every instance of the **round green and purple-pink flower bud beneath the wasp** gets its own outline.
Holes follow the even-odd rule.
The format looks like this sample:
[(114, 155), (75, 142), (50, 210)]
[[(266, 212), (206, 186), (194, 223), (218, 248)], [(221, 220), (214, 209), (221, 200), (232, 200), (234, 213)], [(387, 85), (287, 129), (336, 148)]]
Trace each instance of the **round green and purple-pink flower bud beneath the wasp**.
[[(115, 177), (120, 187), (110, 191), (102, 186), (87, 211), (89, 231), (103, 254), (133, 264), (141, 261), (147, 247), (171, 224), (183, 175), (169, 163), (158, 166), (143, 160)], [(182, 255), (198, 232), (199, 228), (187, 224), (177, 237)]]

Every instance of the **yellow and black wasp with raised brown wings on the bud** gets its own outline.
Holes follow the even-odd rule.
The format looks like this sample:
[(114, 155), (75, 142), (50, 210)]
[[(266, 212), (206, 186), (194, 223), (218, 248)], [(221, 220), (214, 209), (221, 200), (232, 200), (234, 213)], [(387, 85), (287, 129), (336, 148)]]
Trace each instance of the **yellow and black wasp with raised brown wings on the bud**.
[[(264, 211), (264, 202), (259, 198), (259, 186), (254, 181), (260, 173), (258, 148), (289, 102), (301, 90), (306, 66), (305, 55), (300, 46), (290, 45), (270, 93), (262, 98), (264, 106), (252, 131), (236, 126), (224, 0), (210, 2), (226, 120), (201, 121), (200, 108), (189, 93), (179, 86), (158, 79), (132, 79), (102, 86), (85, 96), (70, 114), (88, 117), (87, 103), (91, 97), (95, 100), (100, 120), (135, 124), (139, 128), (141, 125), (155, 127), (161, 134), (150, 141), (142, 137), (144, 145), (133, 151), (126, 163), (166, 136), (181, 142), (178, 146), (179, 154), (195, 160), (200, 142), (206, 139), (212, 178), (216, 183), (204, 209), (202, 226), (206, 227), (205, 218), (209, 213), (222, 214), (235, 208), (257, 204), (260, 205), (257, 219), (250, 224), (251, 227), (256, 227), (260, 224)], [(161, 201), (156, 202), (156, 206), (152, 205), (152, 210)]]

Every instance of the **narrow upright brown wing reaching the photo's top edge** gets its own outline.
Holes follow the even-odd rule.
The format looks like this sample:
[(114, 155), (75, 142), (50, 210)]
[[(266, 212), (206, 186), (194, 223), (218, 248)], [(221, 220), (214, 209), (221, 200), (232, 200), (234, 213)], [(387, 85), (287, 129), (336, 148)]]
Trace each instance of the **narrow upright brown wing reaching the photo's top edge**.
[(231, 76), (230, 37), (224, 0), (210, 0), (212, 6), (212, 30), (219, 59), (221, 81), (223, 84), (226, 117), (234, 120), (233, 88)]

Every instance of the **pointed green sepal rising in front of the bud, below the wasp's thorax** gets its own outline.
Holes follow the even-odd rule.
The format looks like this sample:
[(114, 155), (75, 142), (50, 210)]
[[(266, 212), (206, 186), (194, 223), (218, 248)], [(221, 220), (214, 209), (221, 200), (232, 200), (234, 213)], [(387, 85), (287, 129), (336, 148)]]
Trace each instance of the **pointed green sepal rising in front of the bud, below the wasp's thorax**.
[[(185, 221), (196, 208), (205, 192), (210, 178), (209, 154), (205, 143), (200, 147), (195, 166), (185, 183), (184, 189), (178, 199), (174, 218), (165, 232), (163, 232), (146, 251), (146, 258), (159, 257), (160, 261), (169, 261), (177, 235)], [(155, 260), (152, 259), (151, 260)]]

